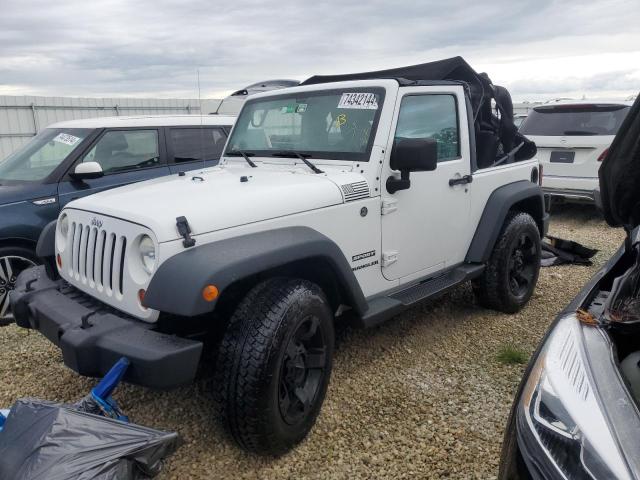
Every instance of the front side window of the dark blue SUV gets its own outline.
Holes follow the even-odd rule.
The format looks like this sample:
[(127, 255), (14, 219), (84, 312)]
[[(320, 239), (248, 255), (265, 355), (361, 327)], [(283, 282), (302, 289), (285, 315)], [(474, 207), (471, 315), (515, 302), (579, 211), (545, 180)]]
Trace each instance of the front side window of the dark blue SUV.
[(160, 164), (157, 130), (113, 130), (105, 133), (82, 162), (98, 162), (105, 174)]

